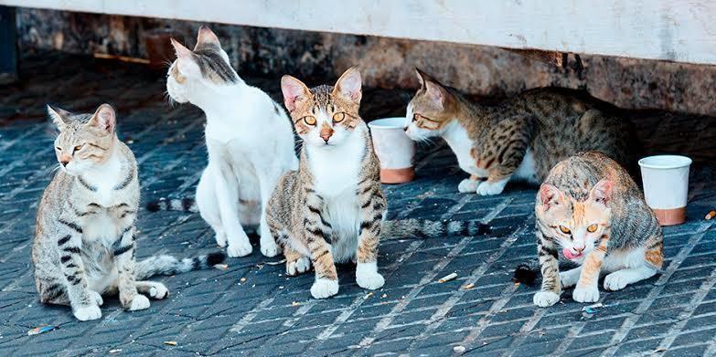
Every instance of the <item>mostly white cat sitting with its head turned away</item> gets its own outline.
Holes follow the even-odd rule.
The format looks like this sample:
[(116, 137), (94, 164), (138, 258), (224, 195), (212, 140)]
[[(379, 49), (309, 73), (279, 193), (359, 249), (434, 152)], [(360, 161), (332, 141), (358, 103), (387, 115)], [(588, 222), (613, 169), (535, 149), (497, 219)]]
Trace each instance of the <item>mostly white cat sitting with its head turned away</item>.
[[(265, 92), (240, 79), (208, 27), (199, 28), (193, 51), (171, 42), (176, 60), (167, 73), (167, 92), (207, 116), (208, 165), (198, 182), (195, 209), (213, 228), (219, 247), (228, 244), (230, 257), (251, 254), (244, 226), (260, 227), (261, 252), (274, 257), (280, 247), (263, 209), (279, 177), (298, 166), (290, 120)], [(184, 207), (182, 201), (187, 202), (154, 202), (147, 208)]]

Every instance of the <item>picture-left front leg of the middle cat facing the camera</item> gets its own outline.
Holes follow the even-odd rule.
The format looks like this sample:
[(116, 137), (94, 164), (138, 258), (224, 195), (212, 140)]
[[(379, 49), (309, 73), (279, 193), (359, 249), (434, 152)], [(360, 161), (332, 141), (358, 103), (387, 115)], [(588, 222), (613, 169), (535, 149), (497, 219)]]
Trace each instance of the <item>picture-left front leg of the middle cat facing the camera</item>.
[(323, 199), (315, 194), (315, 191), (308, 193), (303, 206), (305, 242), (311, 252), (311, 262), (315, 269), (311, 295), (315, 299), (329, 298), (338, 293), (338, 274), (331, 246), (326, 242), (324, 234), (325, 219), (321, 216)]

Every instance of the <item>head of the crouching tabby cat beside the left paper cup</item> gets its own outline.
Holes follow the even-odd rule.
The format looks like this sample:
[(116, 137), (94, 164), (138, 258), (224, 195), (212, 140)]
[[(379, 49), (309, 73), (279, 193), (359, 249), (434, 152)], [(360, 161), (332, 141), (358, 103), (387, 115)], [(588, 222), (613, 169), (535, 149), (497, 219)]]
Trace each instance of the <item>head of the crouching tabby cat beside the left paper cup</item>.
[(451, 114), (453, 95), (440, 82), (415, 68), (421, 89), (415, 93), (405, 113), (405, 133), (415, 141), (443, 134)]

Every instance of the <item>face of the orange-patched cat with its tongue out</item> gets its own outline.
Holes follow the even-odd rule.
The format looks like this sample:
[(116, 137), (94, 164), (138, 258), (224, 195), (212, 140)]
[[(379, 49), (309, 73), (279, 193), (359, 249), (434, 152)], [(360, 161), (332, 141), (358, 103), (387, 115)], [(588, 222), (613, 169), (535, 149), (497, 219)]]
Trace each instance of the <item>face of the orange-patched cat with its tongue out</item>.
[(537, 218), (550, 231), (548, 236), (559, 242), (565, 257), (578, 259), (598, 245), (610, 226), (612, 190), (612, 181), (604, 179), (593, 186), (586, 200), (578, 201), (551, 184), (541, 185)]

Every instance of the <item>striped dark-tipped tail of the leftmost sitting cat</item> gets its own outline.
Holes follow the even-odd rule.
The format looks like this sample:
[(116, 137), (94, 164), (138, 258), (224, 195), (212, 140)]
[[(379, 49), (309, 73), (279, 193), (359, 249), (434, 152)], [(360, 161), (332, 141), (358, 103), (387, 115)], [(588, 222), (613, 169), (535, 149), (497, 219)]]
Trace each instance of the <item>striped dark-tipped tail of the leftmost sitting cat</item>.
[(226, 259), (224, 252), (209, 253), (205, 256), (177, 259), (172, 256), (147, 257), (134, 265), (134, 278), (144, 280), (156, 275), (176, 275), (191, 270), (208, 269)]

